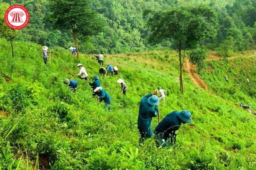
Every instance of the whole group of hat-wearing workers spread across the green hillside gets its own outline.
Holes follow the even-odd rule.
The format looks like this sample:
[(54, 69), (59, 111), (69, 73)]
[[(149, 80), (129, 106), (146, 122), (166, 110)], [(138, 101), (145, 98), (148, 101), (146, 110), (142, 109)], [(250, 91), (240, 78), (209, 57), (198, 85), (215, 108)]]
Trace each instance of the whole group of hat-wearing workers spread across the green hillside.
[[(47, 53), (49, 51), (47, 52), (46, 48), (43, 48), (43, 49), (44, 49), (43, 54), (46, 54), (46, 57), (48, 58)], [(95, 57), (97, 58), (99, 65), (103, 65), (103, 54), (101, 53), (99, 54), (99, 56), (95, 56)], [(94, 76), (93, 77), (94, 81), (90, 82), (87, 71), (85, 70), (84, 66), (78, 63), (77, 67), (80, 68), (80, 71), (74, 77), (80, 76), (80, 79), (84, 79), (85, 81), (88, 81), (89, 85), (93, 88), (92, 96), (97, 97), (98, 103), (104, 101), (105, 108), (107, 108), (108, 111), (110, 111), (111, 97), (108, 94), (108, 92), (102, 88), (101, 82), (99, 81), (99, 76), (101, 76), (102, 74), (105, 76), (107, 74), (107, 71), (105, 70), (105, 68), (100, 67), (99, 76), (97, 75)], [(113, 67), (110, 64), (108, 64), (107, 69), (108, 69), (108, 73), (111, 73), (113, 76), (113, 72), (114, 72)], [(78, 82), (73, 81), (72, 78), (64, 79), (64, 84), (70, 86), (70, 88), (72, 88), (72, 91), (76, 92)], [(126, 95), (127, 85), (125, 84), (124, 80), (118, 79), (116, 82), (121, 84), (120, 92)], [(158, 93), (160, 94), (159, 97), (157, 96)], [(180, 125), (192, 122), (191, 113), (187, 110), (173, 111), (172, 113), (167, 114), (166, 117), (160, 122), (158, 106), (160, 103), (160, 99), (163, 100), (163, 102), (165, 103), (165, 94), (166, 94), (166, 91), (159, 86), (153, 92), (153, 94), (145, 95), (140, 101), (139, 114), (137, 119), (137, 125), (138, 125), (139, 134), (140, 134), (140, 140), (139, 140), (140, 145), (143, 145), (145, 139), (153, 137), (153, 131), (151, 129), (151, 121), (153, 117), (158, 116), (158, 123), (159, 123), (154, 130), (154, 139), (157, 147), (175, 146), (176, 136), (177, 136), (177, 132)]]

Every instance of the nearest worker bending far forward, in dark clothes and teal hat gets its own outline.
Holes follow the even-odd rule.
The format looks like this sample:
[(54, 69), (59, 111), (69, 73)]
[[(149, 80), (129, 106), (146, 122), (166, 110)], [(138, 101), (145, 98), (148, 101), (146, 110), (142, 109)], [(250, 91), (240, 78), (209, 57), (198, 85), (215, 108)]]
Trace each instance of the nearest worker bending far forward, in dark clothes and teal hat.
[(157, 125), (154, 130), (157, 147), (175, 147), (176, 136), (181, 123), (192, 122), (191, 113), (187, 110), (173, 111)]

